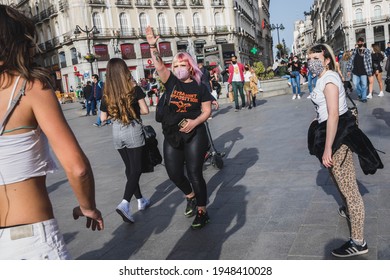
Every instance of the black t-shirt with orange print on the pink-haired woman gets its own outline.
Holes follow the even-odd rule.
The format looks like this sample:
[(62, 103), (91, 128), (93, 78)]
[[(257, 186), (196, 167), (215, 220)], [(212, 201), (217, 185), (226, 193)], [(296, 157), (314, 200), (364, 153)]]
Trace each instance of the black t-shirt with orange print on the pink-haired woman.
[(171, 93), (169, 106), (178, 115), (178, 120), (196, 119), (202, 112), (202, 102), (212, 100), (203, 83), (199, 85), (195, 80), (183, 83), (172, 72), (164, 85), (166, 92)]

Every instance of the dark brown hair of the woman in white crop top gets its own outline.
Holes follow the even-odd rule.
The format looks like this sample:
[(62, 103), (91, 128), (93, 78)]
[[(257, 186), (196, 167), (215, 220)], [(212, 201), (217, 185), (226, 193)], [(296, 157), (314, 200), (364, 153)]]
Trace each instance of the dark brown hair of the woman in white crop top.
[(39, 80), (44, 89), (53, 88), (50, 74), (33, 62), (36, 48), (34, 22), (18, 10), (0, 5), (0, 87), (8, 87), (9, 76), (21, 75), (28, 81)]

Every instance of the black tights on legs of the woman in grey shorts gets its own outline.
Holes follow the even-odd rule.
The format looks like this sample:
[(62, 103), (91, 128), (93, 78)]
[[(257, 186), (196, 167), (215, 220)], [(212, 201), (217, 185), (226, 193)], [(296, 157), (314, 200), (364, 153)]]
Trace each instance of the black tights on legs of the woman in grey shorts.
[(139, 188), (139, 178), (141, 177), (141, 162), (142, 162), (142, 149), (143, 147), (138, 148), (122, 148), (118, 152), (122, 157), (123, 162), (126, 166), (126, 188), (125, 193), (123, 194), (123, 199), (127, 201), (131, 200), (131, 197), (142, 198), (141, 190)]

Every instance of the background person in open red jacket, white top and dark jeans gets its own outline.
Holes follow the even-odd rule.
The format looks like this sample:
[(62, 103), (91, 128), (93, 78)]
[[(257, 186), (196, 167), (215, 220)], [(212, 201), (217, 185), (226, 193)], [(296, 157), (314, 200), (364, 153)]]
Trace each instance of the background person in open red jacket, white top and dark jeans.
[(228, 83), (233, 87), (235, 112), (240, 110), (238, 103), (238, 93), (241, 97), (241, 108), (245, 108), (245, 95), (244, 95), (244, 65), (237, 61), (237, 56), (232, 56), (232, 63), (229, 65), (229, 79)]

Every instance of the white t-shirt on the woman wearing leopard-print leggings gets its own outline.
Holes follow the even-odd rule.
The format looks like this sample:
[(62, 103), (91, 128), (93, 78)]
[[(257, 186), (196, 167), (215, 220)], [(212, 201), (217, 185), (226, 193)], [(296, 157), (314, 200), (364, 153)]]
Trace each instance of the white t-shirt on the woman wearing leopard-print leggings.
[[(311, 100), (316, 107), (317, 120), (319, 123), (322, 123), (328, 119), (328, 109), (326, 106), (326, 99), (324, 95), (325, 86), (328, 83), (336, 85), (339, 89), (339, 116), (348, 111), (344, 85), (341, 81), (339, 74), (334, 71), (326, 71), (322, 77), (318, 78), (316, 87), (314, 88), (313, 93), (311, 95)], [(335, 94), (337, 94), (337, 92), (335, 92)]]

